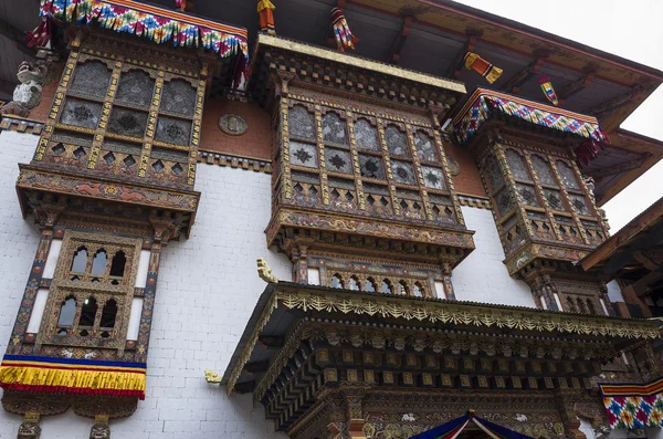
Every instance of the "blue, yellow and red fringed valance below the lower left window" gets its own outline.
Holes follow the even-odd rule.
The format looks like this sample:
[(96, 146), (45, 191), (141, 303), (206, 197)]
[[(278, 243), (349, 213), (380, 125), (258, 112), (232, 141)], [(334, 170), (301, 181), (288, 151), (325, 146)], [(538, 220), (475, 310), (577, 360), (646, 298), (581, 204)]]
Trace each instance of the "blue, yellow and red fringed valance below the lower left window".
[(145, 363), (6, 355), (0, 365), (0, 387), (145, 399)]

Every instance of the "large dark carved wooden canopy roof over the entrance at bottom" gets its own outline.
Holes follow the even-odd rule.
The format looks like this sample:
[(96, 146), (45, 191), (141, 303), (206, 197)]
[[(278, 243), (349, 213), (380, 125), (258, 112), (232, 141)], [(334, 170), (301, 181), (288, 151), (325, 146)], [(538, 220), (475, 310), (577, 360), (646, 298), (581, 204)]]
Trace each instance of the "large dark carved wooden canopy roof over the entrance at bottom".
[(285, 429), (341, 380), (490, 389), (506, 377), (546, 389), (575, 377), (585, 387), (578, 377), (600, 362), (656, 337), (651, 321), (278, 282), (260, 296), (222, 384), (253, 391)]

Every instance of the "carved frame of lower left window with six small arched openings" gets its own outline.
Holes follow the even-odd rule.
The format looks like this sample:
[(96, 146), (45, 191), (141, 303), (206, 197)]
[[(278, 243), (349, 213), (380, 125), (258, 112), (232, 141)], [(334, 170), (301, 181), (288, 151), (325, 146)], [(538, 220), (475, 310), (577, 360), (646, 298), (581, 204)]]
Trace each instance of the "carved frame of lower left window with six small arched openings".
[[(87, 251), (85, 273), (72, 272), (72, 260), (82, 247)], [(36, 345), (56, 345), (75, 347), (98, 347), (124, 351), (131, 312), (138, 262), (143, 240), (123, 238), (104, 233), (87, 233), (67, 230), (64, 233), (55, 273), (51, 280), (49, 296), (36, 335)], [(97, 251), (106, 251), (106, 265), (103, 275), (91, 274), (93, 259)], [(113, 257), (123, 251), (126, 258), (124, 275), (110, 276)], [(73, 281), (72, 278), (78, 278)], [(93, 282), (98, 279), (99, 282)], [(113, 284), (112, 282), (117, 283)], [(63, 302), (73, 296), (76, 300), (76, 313), (66, 335), (59, 335), (57, 323)], [(97, 303), (95, 323), (87, 336), (77, 333), (82, 304), (85, 299), (94, 296)], [(114, 300), (117, 304), (115, 325), (108, 337), (102, 337), (105, 330), (99, 327), (101, 316), (106, 302)]]

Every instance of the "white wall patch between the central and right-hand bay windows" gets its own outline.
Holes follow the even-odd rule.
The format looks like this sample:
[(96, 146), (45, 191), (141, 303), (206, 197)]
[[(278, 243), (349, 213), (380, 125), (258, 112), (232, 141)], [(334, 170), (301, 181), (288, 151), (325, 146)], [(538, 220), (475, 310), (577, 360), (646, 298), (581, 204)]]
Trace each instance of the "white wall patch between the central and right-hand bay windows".
[(474, 233), (476, 249), (453, 270), (452, 283), (460, 301), (536, 307), (529, 286), (508, 275), (504, 250), (493, 212), (463, 206), (467, 229)]

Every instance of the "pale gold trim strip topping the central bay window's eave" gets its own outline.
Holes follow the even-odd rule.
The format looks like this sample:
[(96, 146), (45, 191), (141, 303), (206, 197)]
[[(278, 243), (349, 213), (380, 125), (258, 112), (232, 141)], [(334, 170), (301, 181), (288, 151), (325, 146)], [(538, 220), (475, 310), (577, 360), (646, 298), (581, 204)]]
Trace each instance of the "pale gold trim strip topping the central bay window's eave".
[(278, 38), (275, 35), (270, 35), (266, 33), (261, 33), (257, 36), (257, 48), (260, 45), (269, 45), (276, 49), (283, 49), (291, 52), (297, 52), (305, 55), (313, 55), (326, 61), (337, 62), (340, 64), (346, 64), (355, 67), (361, 67), (367, 70), (372, 70), (378, 73), (382, 73), (389, 76), (401, 77), (404, 80), (418, 82), (421, 84), (425, 84), (429, 86), (449, 90), (455, 93), (467, 93), (465, 85), (455, 82), (445, 80), (438, 76), (432, 76), (425, 73), (414, 72), (411, 70), (406, 70), (401, 67), (397, 67), (390, 64), (383, 64), (378, 61), (372, 61), (364, 58), (348, 55), (341, 52), (337, 52), (329, 49), (317, 48), (309, 44), (303, 44), (296, 41), (286, 40), (283, 38)]

